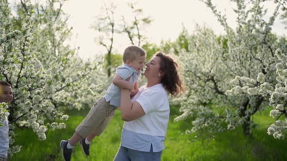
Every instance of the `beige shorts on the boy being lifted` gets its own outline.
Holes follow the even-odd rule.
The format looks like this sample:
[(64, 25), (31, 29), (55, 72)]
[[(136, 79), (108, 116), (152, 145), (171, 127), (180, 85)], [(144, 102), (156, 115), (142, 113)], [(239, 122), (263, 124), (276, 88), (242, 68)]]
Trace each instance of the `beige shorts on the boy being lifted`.
[(86, 138), (91, 133), (100, 136), (114, 115), (115, 110), (108, 104), (105, 97), (99, 98), (75, 131), (83, 138)]

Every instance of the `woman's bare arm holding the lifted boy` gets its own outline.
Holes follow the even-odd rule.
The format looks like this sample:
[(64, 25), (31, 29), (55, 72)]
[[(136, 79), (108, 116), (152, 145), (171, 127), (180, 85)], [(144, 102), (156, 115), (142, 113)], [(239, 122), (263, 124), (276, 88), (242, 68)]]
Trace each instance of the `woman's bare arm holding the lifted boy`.
[(132, 121), (143, 116), (142, 106), (137, 102), (131, 102), (128, 89), (121, 90), (121, 115), (124, 121)]

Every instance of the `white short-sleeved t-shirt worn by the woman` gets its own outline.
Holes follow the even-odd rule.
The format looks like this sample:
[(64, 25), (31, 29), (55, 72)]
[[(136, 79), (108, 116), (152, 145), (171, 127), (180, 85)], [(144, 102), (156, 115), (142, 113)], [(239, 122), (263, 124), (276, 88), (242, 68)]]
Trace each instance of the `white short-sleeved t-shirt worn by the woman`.
[(125, 121), (123, 128), (146, 135), (165, 136), (170, 110), (163, 85), (143, 85), (131, 100), (142, 106), (145, 115), (129, 122)]

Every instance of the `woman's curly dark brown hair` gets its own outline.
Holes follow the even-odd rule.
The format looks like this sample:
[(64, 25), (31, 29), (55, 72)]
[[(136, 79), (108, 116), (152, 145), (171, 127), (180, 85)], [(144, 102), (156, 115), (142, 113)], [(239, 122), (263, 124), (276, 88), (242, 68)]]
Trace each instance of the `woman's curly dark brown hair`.
[(165, 90), (171, 94), (171, 97), (175, 97), (180, 93), (180, 91), (184, 90), (177, 70), (179, 65), (174, 62), (170, 56), (162, 52), (157, 52), (155, 56), (161, 58), (160, 71), (163, 71), (164, 73), (163, 77), (161, 78), (161, 83), (163, 84)]

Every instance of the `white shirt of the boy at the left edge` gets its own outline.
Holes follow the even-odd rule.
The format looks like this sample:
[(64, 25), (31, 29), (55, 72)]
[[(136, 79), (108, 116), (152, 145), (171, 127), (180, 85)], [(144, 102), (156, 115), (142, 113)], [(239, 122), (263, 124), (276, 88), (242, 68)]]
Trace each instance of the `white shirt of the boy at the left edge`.
[(7, 150), (9, 148), (9, 125), (7, 116), (5, 117), (4, 122), (1, 122), (4, 127), (0, 127), (0, 157), (7, 157)]

